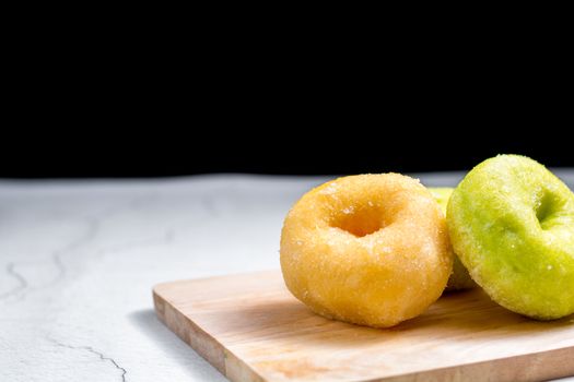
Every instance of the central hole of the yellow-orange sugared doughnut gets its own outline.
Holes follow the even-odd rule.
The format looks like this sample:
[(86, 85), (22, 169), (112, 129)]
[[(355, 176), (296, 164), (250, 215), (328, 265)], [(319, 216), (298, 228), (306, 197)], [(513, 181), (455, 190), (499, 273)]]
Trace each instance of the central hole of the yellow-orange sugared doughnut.
[(361, 208), (345, 207), (339, 211), (330, 222), (330, 226), (342, 229), (358, 238), (374, 234), (387, 226), (379, 207)]

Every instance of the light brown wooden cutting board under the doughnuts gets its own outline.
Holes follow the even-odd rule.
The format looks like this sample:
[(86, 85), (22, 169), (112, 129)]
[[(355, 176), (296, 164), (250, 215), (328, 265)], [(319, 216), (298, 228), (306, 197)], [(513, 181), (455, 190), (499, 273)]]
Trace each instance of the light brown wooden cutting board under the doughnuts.
[(574, 317), (537, 322), (480, 289), (388, 330), (312, 313), (281, 272), (160, 284), (157, 317), (232, 381), (530, 381), (574, 374)]

